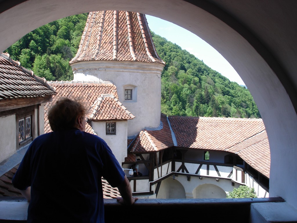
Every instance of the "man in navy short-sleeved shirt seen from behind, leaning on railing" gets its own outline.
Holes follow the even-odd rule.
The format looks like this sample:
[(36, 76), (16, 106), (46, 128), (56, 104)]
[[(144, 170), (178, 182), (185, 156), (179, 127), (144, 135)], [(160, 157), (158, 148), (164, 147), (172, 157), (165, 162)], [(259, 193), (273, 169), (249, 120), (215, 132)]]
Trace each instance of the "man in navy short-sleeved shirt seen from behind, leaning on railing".
[(61, 98), (48, 113), (53, 130), (29, 146), (12, 179), (28, 199), (27, 222), (104, 222), (101, 177), (132, 205), (129, 180), (108, 145), (85, 132), (86, 110)]

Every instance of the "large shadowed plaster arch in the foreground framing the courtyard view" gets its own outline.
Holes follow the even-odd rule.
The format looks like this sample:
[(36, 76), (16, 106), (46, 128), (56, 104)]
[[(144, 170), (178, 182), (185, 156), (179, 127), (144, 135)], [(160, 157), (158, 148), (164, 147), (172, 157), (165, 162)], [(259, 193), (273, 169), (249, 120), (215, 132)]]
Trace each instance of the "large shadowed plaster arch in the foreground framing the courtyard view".
[(251, 91), (271, 147), (270, 196), (283, 197), (297, 208), (297, 176), (290, 174), (297, 169), (296, 1), (209, 0), (193, 4), (200, 5), (182, 0), (1, 1), (0, 51), (48, 22), (95, 10), (145, 13), (188, 29), (217, 49)]

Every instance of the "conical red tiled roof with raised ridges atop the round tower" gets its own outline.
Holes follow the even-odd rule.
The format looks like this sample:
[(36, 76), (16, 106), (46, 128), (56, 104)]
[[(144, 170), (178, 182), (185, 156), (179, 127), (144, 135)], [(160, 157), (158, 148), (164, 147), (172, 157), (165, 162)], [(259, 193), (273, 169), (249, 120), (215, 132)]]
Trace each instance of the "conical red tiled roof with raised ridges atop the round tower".
[(144, 14), (126, 11), (90, 12), (76, 56), (88, 60), (165, 63), (159, 58)]

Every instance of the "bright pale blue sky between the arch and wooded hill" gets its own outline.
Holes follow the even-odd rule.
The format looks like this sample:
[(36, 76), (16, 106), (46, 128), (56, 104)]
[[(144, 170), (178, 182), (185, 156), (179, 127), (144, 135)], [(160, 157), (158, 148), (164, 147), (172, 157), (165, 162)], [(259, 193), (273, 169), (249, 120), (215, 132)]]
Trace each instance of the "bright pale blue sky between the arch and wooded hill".
[(146, 15), (146, 19), (151, 31), (166, 38), (172, 43), (176, 43), (182, 49), (187, 50), (190, 54), (193, 54), (198, 59), (203, 60), (208, 67), (211, 67), (211, 69), (221, 73), (230, 81), (235, 81), (240, 85), (245, 85), (230, 63), (200, 37), (187, 29), (160, 18)]

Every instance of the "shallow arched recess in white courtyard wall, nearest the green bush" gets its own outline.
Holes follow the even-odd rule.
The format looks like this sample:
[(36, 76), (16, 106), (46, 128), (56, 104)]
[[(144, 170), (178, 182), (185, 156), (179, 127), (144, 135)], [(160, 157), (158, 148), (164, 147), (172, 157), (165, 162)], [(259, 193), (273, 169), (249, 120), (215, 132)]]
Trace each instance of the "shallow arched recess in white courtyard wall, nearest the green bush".
[(201, 184), (193, 190), (194, 198), (226, 198), (226, 192), (211, 183)]

